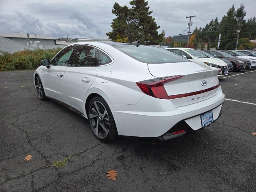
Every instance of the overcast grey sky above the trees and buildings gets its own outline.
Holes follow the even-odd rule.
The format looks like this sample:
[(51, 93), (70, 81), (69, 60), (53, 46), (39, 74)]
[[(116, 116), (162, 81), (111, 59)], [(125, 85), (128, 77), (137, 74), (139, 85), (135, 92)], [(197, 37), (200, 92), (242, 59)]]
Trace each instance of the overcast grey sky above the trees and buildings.
[[(0, 32), (46, 34), (53, 37), (105, 38), (111, 30), (113, 4), (129, 0), (0, 0)], [(256, 0), (148, 0), (152, 16), (166, 36), (188, 26), (186, 16), (196, 15), (193, 26), (220, 20), (234, 4), (244, 3), (246, 18), (256, 16)]]

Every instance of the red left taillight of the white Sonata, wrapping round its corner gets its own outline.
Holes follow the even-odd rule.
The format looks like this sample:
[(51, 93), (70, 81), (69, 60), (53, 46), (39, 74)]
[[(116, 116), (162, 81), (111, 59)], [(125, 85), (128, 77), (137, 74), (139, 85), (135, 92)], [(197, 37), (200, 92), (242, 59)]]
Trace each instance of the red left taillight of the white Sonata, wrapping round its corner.
[(168, 94), (164, 88), (164, 84), (170, 81), (174, 81), (182, 78), (184, 75), (175, 75), (161, 78), (154, 78), (145, 81), (137, 82), (137, 86), (145, 94), (159, 98), (159, 99), (169, 99)]

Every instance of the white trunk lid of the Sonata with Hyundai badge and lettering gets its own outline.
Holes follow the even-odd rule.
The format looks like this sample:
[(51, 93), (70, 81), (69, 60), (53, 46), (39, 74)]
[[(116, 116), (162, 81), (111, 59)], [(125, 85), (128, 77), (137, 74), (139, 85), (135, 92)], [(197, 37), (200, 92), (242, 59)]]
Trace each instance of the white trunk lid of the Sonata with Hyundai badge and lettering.
[(174, 106), (185, 106), (213, 97), (218, 93), (218, 70), (194, 62), (148, 64), (150, 73), (158, 78), (184, 75), (164, 84)]

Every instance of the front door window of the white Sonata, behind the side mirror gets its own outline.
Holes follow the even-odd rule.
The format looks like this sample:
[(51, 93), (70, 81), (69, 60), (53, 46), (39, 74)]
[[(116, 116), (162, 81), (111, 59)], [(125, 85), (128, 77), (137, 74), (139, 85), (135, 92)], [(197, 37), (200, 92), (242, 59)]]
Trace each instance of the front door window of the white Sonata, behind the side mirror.
[(70, 46), (62, 50), (51, 62), (51, 65), (70, 66), (72, 62), (72, 52), (76, 46)]

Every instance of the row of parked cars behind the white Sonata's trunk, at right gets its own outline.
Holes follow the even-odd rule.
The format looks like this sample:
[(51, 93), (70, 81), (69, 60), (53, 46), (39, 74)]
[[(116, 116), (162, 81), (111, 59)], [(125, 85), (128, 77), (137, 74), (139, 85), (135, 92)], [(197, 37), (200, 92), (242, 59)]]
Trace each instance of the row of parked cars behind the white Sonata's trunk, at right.
[(227, 75), (228, 71), (256, 68), (256, 52), (251, 50), (166, 49), (198, 64), (207, 64), (212, 69), (218, 69), (218, 76)]

